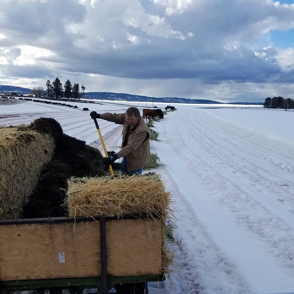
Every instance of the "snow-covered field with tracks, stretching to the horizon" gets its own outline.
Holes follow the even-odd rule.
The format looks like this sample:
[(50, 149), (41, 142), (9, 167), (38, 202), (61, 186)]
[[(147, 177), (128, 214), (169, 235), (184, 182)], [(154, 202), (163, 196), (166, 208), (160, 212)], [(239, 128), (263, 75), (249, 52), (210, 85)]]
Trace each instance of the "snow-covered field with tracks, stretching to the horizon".
[[(76, 105), (0, 106), (0, 125), (53, 117), (66, 134), (102, 151), (82, 107), (127, 107)], [(178, 219), (171, 274), (177, 293), (293, 293), (294, 112), (176, 108), (154, 123), (160, 141), (151, 141), (151, 152), (165, 164), (156, 172)], [(107, 149), (118, 150), (122, 126), (98, 123)]]

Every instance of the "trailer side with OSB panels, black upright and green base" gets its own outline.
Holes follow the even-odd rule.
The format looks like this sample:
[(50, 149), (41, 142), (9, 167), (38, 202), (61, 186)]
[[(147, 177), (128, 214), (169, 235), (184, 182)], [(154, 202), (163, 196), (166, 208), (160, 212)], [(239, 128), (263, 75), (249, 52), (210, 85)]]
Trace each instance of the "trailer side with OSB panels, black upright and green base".
[[(0, 291), (147, 293), (161, 281), (159, 218), (0, 220)], [(138, 290), (138, 289), (142, 290)], [(136, 289), (136, 290), (134, 290)], [(141, 291), (141, 292), (140, 292)]]

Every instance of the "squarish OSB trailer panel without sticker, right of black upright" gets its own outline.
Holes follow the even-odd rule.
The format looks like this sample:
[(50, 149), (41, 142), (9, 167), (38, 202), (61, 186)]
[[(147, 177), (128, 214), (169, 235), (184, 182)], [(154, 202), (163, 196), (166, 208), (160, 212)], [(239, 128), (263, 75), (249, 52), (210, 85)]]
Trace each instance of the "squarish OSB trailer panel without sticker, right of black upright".
[(107, 221), (106, 234), (109, 275), (161, 273), (161, 220)]

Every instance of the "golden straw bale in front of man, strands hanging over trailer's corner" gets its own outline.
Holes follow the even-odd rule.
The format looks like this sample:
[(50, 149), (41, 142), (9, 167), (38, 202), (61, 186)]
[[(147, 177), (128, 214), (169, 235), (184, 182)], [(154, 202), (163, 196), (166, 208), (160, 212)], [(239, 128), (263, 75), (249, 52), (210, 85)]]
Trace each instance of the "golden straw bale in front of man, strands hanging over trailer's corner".
[(71, 178), (68, 180), (66, 205), (70, 216), (124, 216), (147, 213), (162, 219), (162, 272), (173, 263), (168, 251), (165, 221), (174, 219), (170, 209), (171, 196), (165, 191), (160, 176), (116, 175), (100, 178)]

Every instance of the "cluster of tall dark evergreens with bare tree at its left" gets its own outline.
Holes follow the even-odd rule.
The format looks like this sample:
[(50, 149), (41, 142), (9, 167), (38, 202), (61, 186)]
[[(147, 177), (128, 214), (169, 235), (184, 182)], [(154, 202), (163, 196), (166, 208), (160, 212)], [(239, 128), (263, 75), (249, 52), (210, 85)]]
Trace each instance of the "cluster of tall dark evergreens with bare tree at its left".
[[(81, 99), (83, 96), (85, 96), (85, 89), (86, 87), (84, 85), (80, 85), (74, 83), (74, 85), (71, 85), (71, 82), (69, 79), (64, 83), (64, 88), (62, 86), (62, 83), (58, 79), (58, 77), (52, 82), (47, 81), (46, 82), (46, 90), (47, 90), (47, 97), (50, 98), (53, 95), (56, 99), (58, 97), (65, 97), (67, 99)], [(31, 94), (34, 94), (36, 97), (43, 96), (44, 88), (43, 87), (34, 87), (32, 89)]]

